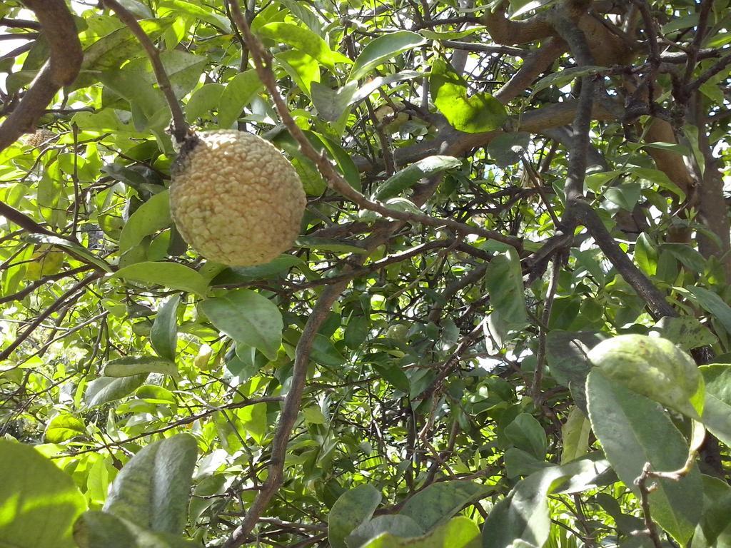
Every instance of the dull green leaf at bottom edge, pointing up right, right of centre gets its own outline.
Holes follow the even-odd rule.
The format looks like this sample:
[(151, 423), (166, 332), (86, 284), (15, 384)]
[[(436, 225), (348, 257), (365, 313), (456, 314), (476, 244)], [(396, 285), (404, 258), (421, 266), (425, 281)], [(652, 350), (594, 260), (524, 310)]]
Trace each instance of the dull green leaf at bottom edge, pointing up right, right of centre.
[(462, 480), (431, 484), (409, 498), (399, 514), (412, 518), (420, 528), (428, 531), (492, 490), (492, 487)]

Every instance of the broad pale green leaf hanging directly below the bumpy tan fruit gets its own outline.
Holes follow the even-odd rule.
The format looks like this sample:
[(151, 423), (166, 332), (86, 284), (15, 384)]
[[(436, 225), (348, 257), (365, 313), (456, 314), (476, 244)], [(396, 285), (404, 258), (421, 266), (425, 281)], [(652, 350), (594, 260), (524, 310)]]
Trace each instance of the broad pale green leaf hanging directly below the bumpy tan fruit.
[(266, 297), (250, 289), (234, 289), (201, 302), (200, 308), (216, 329), (276, 359), (284, 323), (279, 308)]

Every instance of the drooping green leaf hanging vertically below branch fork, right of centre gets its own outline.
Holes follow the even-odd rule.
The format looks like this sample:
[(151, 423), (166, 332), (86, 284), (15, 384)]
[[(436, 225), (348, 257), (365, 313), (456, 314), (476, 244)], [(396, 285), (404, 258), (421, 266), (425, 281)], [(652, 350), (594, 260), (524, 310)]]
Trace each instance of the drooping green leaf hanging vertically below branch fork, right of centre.
[(485, 286), (490, 303), (502, 321), (522, 326), (528, 321), (526, 296), (523, 292), (523, 272), (520, 257), (514, 249), (493, 256), (485, 273)]

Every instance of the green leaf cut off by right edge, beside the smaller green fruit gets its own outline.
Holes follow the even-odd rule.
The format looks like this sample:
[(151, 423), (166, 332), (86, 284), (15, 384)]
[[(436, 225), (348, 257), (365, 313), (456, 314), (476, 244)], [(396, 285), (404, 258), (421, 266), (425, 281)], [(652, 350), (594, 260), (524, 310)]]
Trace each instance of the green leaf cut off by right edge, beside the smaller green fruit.
[(701, 422), (727, 446), (731, 446), (731, 365), (702, 365), (705, 404)]

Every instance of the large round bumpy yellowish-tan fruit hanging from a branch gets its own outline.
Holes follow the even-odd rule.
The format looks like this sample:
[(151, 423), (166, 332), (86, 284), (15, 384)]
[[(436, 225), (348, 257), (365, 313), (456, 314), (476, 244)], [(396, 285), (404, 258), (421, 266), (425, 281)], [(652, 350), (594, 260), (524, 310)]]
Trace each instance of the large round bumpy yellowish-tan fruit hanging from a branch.
[(224, 265), (261, 265), (287, 251), (305, 205), (295, 168), (256, 135), (200, 132), (173, 166), (175, 226), (198, 253)]

